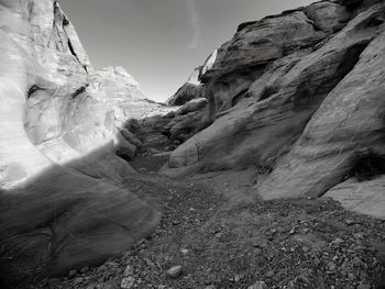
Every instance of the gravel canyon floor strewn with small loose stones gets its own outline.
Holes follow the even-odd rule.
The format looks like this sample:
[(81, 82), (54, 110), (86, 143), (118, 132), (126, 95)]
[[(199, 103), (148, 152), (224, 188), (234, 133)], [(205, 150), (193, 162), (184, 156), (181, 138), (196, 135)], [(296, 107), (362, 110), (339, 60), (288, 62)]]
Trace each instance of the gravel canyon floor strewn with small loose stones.
[(129, 178), (127, 186), (163, 212), (157, 231), (98, 268), (26, 288), (374, 288), (385, 271), (384, 221), (327, 199), (261, 202), (253, 178)]

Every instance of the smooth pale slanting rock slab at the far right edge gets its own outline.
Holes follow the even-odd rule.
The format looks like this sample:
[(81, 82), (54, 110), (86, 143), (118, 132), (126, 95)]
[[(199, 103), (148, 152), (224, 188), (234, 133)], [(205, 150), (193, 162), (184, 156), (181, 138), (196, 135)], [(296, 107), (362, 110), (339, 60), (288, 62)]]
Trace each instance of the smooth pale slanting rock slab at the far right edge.
[[(384, 4), (376, 14), (376, 18), (385, 16)], [(376, 18), (372, 16), (372, 21)], [(385, 25), (372, 30), (384, 31)], [(384, 52), (385, 33), (382, 33), (329, 93), (290, 153), (261, 187), (262, 196), (267, 199), (321, 196), (349, 174), (354, 152), (385, 151)]]

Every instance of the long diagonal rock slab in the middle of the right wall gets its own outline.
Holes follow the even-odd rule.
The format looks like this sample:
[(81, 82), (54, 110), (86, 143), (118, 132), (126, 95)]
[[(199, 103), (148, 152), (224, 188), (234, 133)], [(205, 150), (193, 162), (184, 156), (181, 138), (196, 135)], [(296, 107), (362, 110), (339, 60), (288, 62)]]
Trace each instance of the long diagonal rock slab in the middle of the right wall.
[[(224, 112), (217, 112), (211, 126), (178, 147), (172, 155), (169, 167), (196, 163), (209, 170), (246, 165), (272, 166), (290, 148), (323, 99), (353, 68), (367, 43), (381, 32), (378, 27), (362, 29), (362, 23), (375, 13), (376, 9), (355, 19), (316, 49), (294, 52), (270, 64), (263, 76), (246, 86), (249, 98)], [(274, 31), (274, 26), (270, 31)]]

